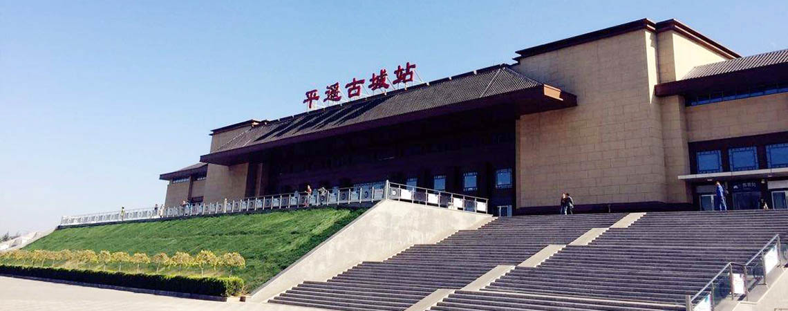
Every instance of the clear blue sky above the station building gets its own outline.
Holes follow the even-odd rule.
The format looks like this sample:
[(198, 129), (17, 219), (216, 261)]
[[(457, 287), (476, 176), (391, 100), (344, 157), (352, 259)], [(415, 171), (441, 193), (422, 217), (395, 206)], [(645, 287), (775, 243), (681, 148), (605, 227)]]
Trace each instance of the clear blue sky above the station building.
[(405, 61), (425, 80), (648, 17), (743, 55), (788, 48), (788, 2), (0, 1), (0, 234), (164, 201), (210, 129)]

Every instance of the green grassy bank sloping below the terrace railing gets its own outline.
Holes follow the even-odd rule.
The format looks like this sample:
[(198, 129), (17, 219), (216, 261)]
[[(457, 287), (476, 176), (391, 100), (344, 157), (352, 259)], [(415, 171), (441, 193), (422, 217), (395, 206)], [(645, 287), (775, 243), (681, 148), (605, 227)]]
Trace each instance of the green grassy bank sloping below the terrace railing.
[(108, 224), (56, 230), (25, 250), (109, 250), (129, 254), (211, 250), (238, 252), (247, 267), (239, 272), (253, 291), (366, 209), (309, 209), (198, 217), (136, 224)]

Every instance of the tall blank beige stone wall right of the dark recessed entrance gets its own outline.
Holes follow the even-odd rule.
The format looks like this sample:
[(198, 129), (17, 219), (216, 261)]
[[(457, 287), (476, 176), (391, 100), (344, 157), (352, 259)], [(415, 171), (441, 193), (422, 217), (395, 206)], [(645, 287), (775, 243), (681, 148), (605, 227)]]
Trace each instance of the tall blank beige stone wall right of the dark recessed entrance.
[(578, 96), (578, 106), (517, 124), (518, 205), (665, 201), (651, 31), (523, 58), (515, 70)]

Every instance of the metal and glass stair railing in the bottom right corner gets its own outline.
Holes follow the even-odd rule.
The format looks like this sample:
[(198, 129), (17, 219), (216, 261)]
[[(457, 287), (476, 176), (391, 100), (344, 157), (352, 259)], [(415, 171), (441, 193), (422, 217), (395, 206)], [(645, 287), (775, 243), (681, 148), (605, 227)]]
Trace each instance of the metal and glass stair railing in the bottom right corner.
[(788, 261), (786, 252), (788, 247), (782, 246), (778, 234), (744, 264), (729, 262), (700, 291), (686, 296), (687, 311), (714, 310), (727, 297), (746, 297), (757, 285), (766, 284), (773, 268)]

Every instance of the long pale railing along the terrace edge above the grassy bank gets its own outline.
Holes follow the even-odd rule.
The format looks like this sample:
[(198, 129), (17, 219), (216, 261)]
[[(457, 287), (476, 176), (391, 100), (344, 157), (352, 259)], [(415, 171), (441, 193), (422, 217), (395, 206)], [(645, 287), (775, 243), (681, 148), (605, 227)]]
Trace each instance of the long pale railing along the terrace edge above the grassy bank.
[(386, 181), (381, 186), (347, 187), (332, 190), (318, 189), (289, 194), (271, 194), (224, 202), (191, 203), (148, 209), (126, 209), (106, 213), (91, 213), (61, 218), (61, 226), (102, 224), (119, 221), (172, 217), (194, 217), (223, 213), (254, 212), (263, 209), (296, 209), (325, 205), (350, 205), (378, 202), (385, 198), (413, 202), (474, 213), (487, 213), (487, 199), (470, 195), (452, 194), (422, 187), (412, 187)]

